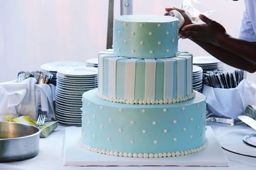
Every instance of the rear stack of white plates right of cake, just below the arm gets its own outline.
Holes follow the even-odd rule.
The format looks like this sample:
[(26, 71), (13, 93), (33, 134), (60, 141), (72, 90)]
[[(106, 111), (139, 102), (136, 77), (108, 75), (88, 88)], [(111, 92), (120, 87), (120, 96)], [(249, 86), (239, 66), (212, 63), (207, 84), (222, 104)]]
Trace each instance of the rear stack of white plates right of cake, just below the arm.
[(207, 71), (213, 71), (214, 69), (220, 69), (221, 61), (212, 56), (200, 56), (193, 58), (193, 65), (202, 67), (204, 73)]

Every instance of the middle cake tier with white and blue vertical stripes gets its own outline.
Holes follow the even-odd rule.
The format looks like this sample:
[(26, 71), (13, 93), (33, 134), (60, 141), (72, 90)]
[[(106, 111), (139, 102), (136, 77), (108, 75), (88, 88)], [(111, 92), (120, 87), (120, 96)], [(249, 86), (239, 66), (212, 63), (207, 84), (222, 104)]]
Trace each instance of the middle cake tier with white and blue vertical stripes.
[(192, 55), (165, 59), (131, 59), (99, 53), (98, 96), (127, 104), (166, 104), (195, 97)]

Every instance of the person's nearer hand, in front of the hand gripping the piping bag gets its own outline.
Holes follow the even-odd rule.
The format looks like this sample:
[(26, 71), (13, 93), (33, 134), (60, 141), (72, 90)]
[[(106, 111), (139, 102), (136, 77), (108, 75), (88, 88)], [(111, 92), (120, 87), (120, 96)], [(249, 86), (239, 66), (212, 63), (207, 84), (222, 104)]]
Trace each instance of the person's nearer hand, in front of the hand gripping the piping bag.
[(220, 41), (228, 36), (225, 28), (205, 15), (200, 14), (199, 18), (205, 24), (189, 24), (182, 27), (179, 32), (180, 38), (206, 41), (212, 45), (220, 46)]

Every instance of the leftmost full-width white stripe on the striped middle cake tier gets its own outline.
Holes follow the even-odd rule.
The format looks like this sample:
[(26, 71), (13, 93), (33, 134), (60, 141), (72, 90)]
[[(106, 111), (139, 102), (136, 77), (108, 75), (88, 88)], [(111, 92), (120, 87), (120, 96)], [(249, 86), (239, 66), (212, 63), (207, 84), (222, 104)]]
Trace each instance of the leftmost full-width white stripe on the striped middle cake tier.
[(108, 59), (108, 96), (116, 97), (116, 60), (119, 57)]

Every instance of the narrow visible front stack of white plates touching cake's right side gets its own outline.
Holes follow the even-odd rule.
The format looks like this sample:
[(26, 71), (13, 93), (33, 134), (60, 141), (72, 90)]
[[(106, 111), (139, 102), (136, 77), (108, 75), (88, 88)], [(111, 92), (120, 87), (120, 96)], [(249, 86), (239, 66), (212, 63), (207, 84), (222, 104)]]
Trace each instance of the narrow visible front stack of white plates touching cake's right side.
[(203, 89), (203, 69), (193, 66), (193, 90), (202, 92)]

